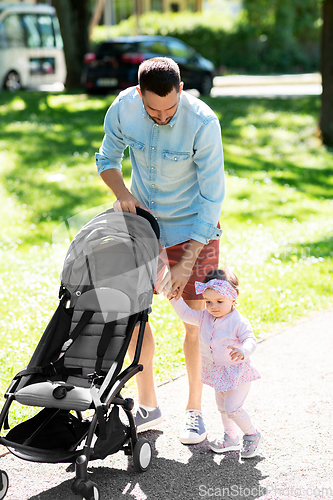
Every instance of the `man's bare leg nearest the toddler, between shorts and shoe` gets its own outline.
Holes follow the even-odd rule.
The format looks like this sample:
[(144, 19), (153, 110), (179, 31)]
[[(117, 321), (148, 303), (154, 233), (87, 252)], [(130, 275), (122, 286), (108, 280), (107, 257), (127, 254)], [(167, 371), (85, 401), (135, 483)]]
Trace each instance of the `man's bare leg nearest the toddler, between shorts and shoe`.
[[(185, 300), (191, 309), (201, 311), (205, 308), (203, 300)], [(186, 410), (201, 411), (201, 356), (199, 349), (199, 328), (195, 325), (184, 323), (185, 339), (184, 354), (188, 377), (189, 394)]]

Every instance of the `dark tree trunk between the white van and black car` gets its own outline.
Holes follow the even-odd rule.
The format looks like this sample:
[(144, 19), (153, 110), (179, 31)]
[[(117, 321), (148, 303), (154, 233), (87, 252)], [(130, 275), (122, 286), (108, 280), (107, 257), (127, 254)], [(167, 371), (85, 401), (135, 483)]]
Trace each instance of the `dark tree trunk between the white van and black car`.
[(89, 0), (54, 0), (64, 42), (67, 89), (81, 87), (83, 57), (89, 51)]

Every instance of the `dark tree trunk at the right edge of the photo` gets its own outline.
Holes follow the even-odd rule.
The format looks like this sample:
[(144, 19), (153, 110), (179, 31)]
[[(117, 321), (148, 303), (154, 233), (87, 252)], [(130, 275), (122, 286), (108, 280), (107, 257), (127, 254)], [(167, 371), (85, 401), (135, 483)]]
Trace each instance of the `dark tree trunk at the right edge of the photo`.
[(323, 93), (319, 127), (323, 143), (333, 146), (333, 0), (323, 2), (321, 73)]

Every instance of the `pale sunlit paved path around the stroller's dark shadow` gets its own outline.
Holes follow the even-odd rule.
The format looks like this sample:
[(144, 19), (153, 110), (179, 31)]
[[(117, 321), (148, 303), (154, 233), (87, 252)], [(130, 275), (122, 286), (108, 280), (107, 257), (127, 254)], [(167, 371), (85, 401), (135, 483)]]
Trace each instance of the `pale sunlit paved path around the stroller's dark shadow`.
[[(186, 402), (186, 377), (158, 389), (165, 422), (144, 435), (154, 448), (151, 468), (133, 471), (119, 452), (90, 464), (101, 500), (333, 499), (333, 310), (314, 315), (258, 346), (253, 361), (262, 379), (253, 383), (246, 408), (262, 429), (260, 456), (240, 461), (209, 450), (208, 441), (178, 441)], [(203, 411), (209, 439), (221, 433), (212, 390)], [(0, 450), (0, 455), (1, 455)], [(71, 500), (74, 476), (66, 465), (1, 458), (10, 476), (6, 500)]]

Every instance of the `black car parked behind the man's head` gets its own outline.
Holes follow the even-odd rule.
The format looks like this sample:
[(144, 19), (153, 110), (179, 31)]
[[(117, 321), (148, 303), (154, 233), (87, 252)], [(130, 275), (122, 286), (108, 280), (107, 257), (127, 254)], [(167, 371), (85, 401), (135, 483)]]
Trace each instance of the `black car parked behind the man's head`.
[(177, 38), (158, 35), (117, 37), (99, 44), (95, 52), (86, 54), (84, 58), (83, 85), (88, 93), (137, 85), (140, 63), (161, 56), (170, 57), (178, 63), (185, 89), (210, 93), (213, 63)]

